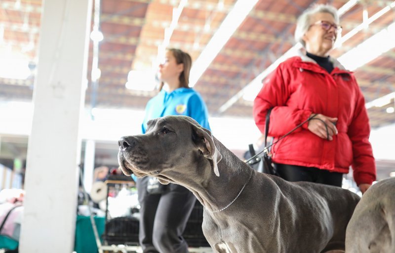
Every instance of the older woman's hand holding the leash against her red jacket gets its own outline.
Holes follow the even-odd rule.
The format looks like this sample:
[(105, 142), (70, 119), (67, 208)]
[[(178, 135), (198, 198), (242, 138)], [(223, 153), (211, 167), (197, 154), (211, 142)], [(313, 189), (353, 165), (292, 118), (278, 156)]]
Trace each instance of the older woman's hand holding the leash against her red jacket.
[[(324, 122), (328, 127), (328, 132), (326, 132), (326, 127)], [(333, 140), (332, 136), (337, 135), (337, 128), (335, 126), (336, 122), (337, 122), (337, 118), (331, 118), (322, 114), (316, 114), (316, 116), (314, 116), (314, 118), (309, 121), (309, 125), (307, 128), (312, 133), (316, 134), (322, 139), (329, 139), (329, 141), (332, 141)]]

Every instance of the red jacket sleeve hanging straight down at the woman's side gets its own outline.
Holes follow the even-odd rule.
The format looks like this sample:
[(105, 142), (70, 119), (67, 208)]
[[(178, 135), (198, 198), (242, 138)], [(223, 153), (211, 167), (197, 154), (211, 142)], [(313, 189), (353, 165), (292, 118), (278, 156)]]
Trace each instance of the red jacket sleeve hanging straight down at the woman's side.
[[(355, 79), (353, 77), (353, 79)], [(370, 125), (365, 99), (357, 87), (356, 108), (349, 126), (348, 136), (353, 144), (353, 171), (356, 184), (372, 183), (376, 180), (376, 163), (372, 145), (369, 142)]]

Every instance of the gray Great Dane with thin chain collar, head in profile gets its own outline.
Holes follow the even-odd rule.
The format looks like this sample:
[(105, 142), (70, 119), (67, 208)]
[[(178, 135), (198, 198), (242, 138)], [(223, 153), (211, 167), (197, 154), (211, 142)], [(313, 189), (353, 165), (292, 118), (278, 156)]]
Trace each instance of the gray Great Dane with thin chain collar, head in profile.
[(146, 134), (118, 145), (125, 175), (154, 176), (196, 195), (217, 253), (344, 252), (359, 200), (348, 190), (258, 173), (187, 116), (151, 120)]

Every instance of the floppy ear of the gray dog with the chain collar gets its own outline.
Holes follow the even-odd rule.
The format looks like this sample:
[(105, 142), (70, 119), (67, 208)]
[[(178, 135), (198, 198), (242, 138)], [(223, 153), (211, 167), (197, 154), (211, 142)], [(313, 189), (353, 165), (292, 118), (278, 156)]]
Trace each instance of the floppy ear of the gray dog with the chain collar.
[(204, 157), (213, 160), (214, 173), (219, 177), (218, 163), (222, 159), (221, 153), (214, 144), (211, 132), (199, 125), (193, 125), (194, 142), (203, 153)]

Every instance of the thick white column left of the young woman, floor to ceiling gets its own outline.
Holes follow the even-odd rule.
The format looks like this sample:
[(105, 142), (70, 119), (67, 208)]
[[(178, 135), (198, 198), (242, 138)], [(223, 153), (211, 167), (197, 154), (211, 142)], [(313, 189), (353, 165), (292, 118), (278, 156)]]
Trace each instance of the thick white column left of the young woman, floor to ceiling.
[(91, 0), (43, 3), (21, 253), (74, 249), (91, 12)]

